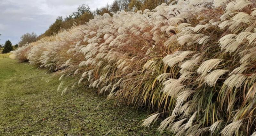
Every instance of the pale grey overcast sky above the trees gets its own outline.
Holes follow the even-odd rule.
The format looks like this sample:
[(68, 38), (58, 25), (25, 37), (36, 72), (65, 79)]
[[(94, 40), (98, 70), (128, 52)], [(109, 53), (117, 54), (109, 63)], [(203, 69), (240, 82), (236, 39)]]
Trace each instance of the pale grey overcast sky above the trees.
[(57, 16), (77, 11), (88, 4), (91, 10), (111, 4), (114, 0), (0, 0), (0, 44), (11, 40), (16, 44), (27, 32), (44, 33)]

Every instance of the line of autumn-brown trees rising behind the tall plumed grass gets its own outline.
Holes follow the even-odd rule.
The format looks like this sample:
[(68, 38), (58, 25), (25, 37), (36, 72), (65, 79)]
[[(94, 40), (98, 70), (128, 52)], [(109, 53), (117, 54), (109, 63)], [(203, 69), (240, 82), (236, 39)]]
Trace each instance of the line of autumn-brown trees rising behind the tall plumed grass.
[(43, 34), (36, 36), (34, 32), (26, 33), (20, 37), (19, 47), (25, 45), (26, 43), (31, 43), (39, 40), (43, 37), (52, 36), (60, 31), (69, 29), (74, 25), (84, 25), (90, 19), (93, 19), (95, 15), (103, 15), (108, 13), (112, 16), (111, 12), (117, 11), (139, 11), (149, 9), (152, 10), (156, 6), (167, 3), (166, 0), (115, 0), (112, 4), (107, 4), (106, 6), (91, 11), (87, 4), (82, 4), (77, 8), (77, 11), (63, 18), (58, 16), (55, 22), (50, 25), (49, 29)]

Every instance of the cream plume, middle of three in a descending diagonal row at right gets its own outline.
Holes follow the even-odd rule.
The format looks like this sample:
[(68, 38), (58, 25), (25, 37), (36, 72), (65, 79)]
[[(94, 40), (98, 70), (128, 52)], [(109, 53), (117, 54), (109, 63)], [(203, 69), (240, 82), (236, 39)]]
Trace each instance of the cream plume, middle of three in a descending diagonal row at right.
[(212, 71), (210, 74), (206, 75), (204, 77), (205, 82), (210, 85), (210, 86), (214, 86), (217, 82), (217, 80), (219, 79), (219, 77), (223, 74), (225, 74), (226, 72), (228, 72), (228, 70), (225, 69), (217, 69)]

